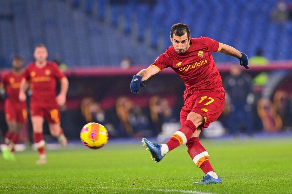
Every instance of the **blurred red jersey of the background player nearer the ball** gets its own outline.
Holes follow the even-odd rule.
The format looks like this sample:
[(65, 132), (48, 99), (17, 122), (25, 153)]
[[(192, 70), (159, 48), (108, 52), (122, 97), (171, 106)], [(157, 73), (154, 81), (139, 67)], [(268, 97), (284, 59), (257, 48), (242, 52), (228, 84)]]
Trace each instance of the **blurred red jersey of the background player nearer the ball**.
[(58, 65), (47, 61), (46, 66), (36, 67), (35, 62), (25, 68), (25, 79), (32, 87), (31, 104), (56, 104), (56, 79), (65, 78)]

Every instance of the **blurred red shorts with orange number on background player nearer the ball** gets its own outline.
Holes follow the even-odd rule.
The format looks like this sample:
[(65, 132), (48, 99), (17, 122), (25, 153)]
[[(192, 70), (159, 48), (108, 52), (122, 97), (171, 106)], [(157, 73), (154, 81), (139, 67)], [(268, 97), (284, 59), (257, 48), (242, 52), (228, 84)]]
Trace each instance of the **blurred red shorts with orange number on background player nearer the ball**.
[(59, 123), (60, 122), (60, 110), (58, 104), (30, 104), (30, 115), (31, 116), (41, 116), (45, 118), (49, 123)]

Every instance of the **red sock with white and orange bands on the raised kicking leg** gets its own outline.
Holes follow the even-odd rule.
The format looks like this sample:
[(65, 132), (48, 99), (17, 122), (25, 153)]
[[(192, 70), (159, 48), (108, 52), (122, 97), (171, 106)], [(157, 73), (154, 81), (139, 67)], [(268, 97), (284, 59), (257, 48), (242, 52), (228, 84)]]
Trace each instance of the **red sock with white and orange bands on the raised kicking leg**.
[(196, 129), (197, 127), (192, 121), (186, 120), (183, 126), (176, 131), (175, 134), (173, 134), (168, 142), (165, 143), (168, 146), (168, 150), (170, 151), (184, 143), (187, 143)]

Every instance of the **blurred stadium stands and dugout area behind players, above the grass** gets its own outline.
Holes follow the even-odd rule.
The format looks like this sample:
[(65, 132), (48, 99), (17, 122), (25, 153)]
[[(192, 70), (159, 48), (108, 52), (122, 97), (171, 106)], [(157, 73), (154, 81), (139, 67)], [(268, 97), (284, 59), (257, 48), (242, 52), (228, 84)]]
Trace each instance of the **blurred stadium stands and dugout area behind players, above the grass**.
[[(77, 140), (81, 127), (91, 121), (106, 125), (111, 138), (167, 136), (178, 126), (184, 103), (179, 76), (164, 70), (135, 95), (129, 83), (171, 44), (171, 25), (184, 22), (192, 37), (209, 36), (250, 58), (250, 70), (241, 74), (249, 85), (243, 88), (238, 80), (230, 85), (230, 70), (238, 60), (213, 54), (231, 95), (220, 123), (205, 136), (291, 132), (291, 17), (291, 1), (2, 0), (1, 74), (14, 55), (28, 64), (34, 45), (44, 43), (49, 60), (69, 79), (67, 103), (61, 107), (69, 140)], [(7, 126), (0, 102), (3, 137)], [(237, 119), (234, 106), (241, 112), (236, 127), (229, 122)], [(28, 128), (30, 133), (30, 124)]]

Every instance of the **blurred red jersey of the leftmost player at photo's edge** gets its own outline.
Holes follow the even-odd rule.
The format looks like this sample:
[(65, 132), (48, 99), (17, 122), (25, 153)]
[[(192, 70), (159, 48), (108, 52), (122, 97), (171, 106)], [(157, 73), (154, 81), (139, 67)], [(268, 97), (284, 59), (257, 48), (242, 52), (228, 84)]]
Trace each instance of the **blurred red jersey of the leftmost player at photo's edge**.
[(15, 75), (13, 71), (10, 71), (2, 76), (1, 85), (5, 88), (8, 95), (8, 99), (13, 102), (20, 102), (18, 99), (20, 82), (24, 74)]

